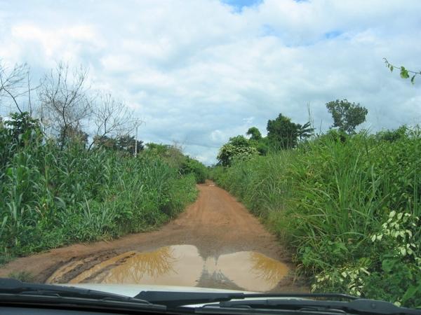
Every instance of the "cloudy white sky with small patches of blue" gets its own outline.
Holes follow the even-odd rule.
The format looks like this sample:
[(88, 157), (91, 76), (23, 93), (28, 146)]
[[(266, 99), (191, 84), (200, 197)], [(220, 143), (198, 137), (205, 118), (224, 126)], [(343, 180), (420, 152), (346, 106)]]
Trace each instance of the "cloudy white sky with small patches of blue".
[(144, 122), (142, 141), (210, 165), (279, 113), (328, 130), (335, 99), (365, 106), (372, 132), (420, 123), (421, 77), (382, 59), (420, 71), (420, 12), (418, 0), (0, 0), (0, 59), (27, 62), (33, 82), (60, 61), (87, 67), (93, 90)]

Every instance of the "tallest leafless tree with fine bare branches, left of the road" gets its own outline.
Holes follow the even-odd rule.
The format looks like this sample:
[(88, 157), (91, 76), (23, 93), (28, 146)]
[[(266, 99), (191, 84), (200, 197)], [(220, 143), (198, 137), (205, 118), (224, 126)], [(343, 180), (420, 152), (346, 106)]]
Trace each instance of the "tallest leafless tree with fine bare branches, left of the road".
[(41, 122), (49, 118), (52, 127), (60, 133), (62, 145), (71, 130), (80, 130), (81, 121), (92, 113), (92, 99), (88, 97), (88, 71), (80, 67), (69, 75), (69, 65), (60, 62), (41, 80)]

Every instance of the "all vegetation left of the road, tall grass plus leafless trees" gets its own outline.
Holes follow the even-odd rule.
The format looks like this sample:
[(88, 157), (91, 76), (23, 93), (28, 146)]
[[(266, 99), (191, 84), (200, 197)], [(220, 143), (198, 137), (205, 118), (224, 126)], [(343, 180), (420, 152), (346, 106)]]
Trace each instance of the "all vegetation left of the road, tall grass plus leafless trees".
[(206, 167), (176, 145), (135, 139), (133, 113), (93, 97), (85, 71), (59, 64), (30, 99), (25, 69), (0, 65), (1, 109), (16, 111), (0, 117), (0, 264), (145, 231), (195, 200)]

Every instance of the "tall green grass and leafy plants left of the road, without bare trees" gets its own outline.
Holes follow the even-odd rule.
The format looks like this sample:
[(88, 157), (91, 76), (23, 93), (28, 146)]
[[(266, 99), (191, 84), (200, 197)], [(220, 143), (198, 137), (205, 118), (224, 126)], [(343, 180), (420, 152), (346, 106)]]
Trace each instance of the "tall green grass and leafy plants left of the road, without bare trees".
[(196, 197), (193, 175), (162, 158), (80, 143), (60, 148), (34, 126), (0, 126), (1, 261), (78, 241), (139, 232)]

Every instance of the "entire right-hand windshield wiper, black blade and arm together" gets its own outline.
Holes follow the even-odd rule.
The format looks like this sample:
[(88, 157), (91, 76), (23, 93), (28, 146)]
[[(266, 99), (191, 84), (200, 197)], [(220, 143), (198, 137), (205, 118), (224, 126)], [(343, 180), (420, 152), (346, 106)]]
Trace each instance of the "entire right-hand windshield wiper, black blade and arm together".
[[(421, 310), (397, 307), (396, 305), (385, 301), (366, 300), (352, 295), (336, 293), (180, 293), (166, 291), (142, 291), (135, 297), (148, 300), (149, 302), (164, 304), (167, 307), (206, 304), (203, 307), (197, 308), (198, 311), (200, 310), (199, 312), (213, 312), (215, 311), (215, 307), (225, 309), (243, 307), (243, 309), (247, 308), (248, 310), (323, 310), (333, 312), (345, 311), (352, 314), (421, 315)], [(323, 300), (309, 300), (315, 298)]]

